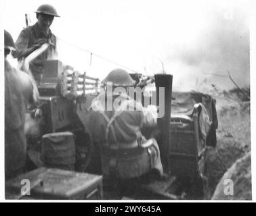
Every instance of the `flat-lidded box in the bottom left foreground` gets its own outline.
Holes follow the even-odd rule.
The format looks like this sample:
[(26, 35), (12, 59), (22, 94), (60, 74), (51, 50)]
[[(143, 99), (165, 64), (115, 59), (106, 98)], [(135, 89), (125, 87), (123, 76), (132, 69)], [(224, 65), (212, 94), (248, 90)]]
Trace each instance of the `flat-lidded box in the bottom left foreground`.
[[(30, 196), (20, 196), (22, 180), (29, 180)], [(102, 175), (41, 167), (5, 182), (5, 198), (102, 199)]]

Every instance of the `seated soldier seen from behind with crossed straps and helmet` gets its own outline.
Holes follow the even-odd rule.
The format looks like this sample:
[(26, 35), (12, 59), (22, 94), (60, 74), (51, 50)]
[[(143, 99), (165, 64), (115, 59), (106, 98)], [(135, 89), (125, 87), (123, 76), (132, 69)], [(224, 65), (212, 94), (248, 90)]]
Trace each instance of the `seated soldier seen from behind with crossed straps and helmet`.
[[(156, 140), (152, 138), (152, 142), (144, 146), (146, 140), (142, 135), (144, 126), (156, 126), (156, 107), (144, 108), (128, 96), (128, 87), (134, 85), (134, 80), (125, 70), (113, 70), (103, 83), (106, 92), (93, 100), (85, 125), (93, 144), (100, 148), (105, 179), (135, 179), (152, 169), (163, 175)], [(108, 84), (113, 88), (108, 88)], [(123, 91), (116, 92), (114, 87)]]

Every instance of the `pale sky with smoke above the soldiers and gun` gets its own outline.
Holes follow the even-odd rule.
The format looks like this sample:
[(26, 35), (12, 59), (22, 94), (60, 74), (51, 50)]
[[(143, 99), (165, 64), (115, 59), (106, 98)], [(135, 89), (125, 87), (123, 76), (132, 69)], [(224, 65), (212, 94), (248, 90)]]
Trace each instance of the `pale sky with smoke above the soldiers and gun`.
[[(131, 70), (152, 75), (173, 74), (174, 87), (196, 88), (213, 82), (231, 88), (232, 82), (209, 74), (230, 70), (240, 85), (249, 84), (249, 18), (251, 1), (133, 1), (133, 0), (3, 0), (4, 28), (14, 39), (28, 14), (42, 3), (56, 7), (51, 30), (60, 38), (59, 59), (77, 70), (104, 78), (119, 68), (87, 49)], [(207, 75), (208, 74), (208, 75)]]

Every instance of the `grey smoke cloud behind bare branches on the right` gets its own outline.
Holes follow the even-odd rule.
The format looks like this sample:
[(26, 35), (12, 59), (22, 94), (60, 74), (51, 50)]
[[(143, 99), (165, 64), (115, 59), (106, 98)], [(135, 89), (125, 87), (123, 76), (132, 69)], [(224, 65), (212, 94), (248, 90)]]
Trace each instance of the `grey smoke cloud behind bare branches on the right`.
[[(207, 27), (190, 43), (169, 47), (165, 62), (173, 74), (174, 90), (234, 88), (250, 83), (250, 38), (248, 11), (239, 7), (207, 12)], [(213, 74), (217, 74), (213, 75)]]

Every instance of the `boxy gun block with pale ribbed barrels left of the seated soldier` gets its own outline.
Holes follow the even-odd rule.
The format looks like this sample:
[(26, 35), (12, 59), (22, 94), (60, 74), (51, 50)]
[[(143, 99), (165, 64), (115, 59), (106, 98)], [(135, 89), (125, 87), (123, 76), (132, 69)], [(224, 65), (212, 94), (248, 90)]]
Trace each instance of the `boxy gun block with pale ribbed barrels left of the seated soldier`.
[(97, 95), (99, 80), (74, 71), (61, 61), (43, 62), (43, 74), (39, 82), (41, 105), (45, 115), (44, 132), (58, 132), (74, 124), (76, 105), (80, 99)]

